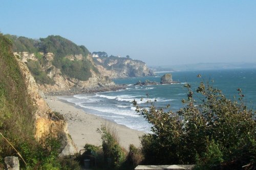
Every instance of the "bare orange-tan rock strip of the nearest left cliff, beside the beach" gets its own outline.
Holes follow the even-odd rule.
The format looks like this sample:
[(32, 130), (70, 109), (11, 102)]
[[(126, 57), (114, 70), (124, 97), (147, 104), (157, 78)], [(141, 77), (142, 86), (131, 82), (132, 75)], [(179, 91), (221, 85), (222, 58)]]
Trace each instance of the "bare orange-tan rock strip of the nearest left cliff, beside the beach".
[[(25, 63), (18, 60), (20, 70), (22, 70), (25, 82), (27, 85), (28, 93), (33, 101), (33, 105), (36, 108), (36, 127), (35, 127), (35, 138), (39, 139), (42, 135), (51, 133), (55, 136), (61, 136), (63, 145), (61, 156), (73, 155), (76, 151), (76, 147), (70, 139), (67, 131), (67, 123), (60, 119), (55, 113), (48, 107), (47, 103), (41, 97), (44, 95), (38, 89), (35, 79), (30, 74), (30, 71)], [(69, 148), (68, 152), (67, 149)]]

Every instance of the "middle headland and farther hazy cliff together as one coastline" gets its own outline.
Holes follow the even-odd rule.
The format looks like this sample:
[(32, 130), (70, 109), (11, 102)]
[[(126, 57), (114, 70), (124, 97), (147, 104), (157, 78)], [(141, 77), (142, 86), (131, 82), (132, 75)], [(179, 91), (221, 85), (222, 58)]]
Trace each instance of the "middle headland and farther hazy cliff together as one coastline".
[(51, 35), (39, 40), (6, 36), (13, 43), (14, 54), (27, 64), (39, 88), (47, 93), (108, 89), (115, 85), (111, 81), (113, 78), (154, 75), (142, 61), (104, 57), (107, 54), (95, 58), (85, 46), (60, 36)]

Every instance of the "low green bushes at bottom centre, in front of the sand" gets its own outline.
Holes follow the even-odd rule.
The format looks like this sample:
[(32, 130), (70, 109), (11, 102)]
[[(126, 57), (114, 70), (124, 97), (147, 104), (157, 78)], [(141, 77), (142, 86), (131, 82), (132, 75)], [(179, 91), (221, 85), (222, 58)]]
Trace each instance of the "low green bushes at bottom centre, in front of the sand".
[(102, 146), (86, 144), (84, 146), (86, 151), (79, 158), (81, 163), (84, 159), (90, 159), (91, 167), (94, 169), (132, 170), (141, 162), (140, 150), (131, 144), (127, 154), (118, 142), (116, 129), (110, 124), (101, 126), (98, 132), (101, 133)]

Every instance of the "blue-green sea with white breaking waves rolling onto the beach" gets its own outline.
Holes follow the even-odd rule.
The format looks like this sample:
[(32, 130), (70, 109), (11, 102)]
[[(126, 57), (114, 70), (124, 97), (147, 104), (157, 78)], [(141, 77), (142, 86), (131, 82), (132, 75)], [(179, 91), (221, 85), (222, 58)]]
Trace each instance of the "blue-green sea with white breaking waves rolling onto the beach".
[[(160, 83), (161, 76), (170, 73), (173, 81), (178, 84), (135, 86), (138, 81), (156, 81)], [(197, 75), (201, 75), (198, 78)], [(94, 94), (77, 94), (71, 96), (59, 96), (61, 100), (75, 104), (87, 113), (111, 120), (117, 124), (124, 125), (131, 129), (151, 132), (152, 125), (145, 118), (136, 112), (133, 105), (135, 100), (139, 106), (148, 108), (152, 101), (158, 108), (165, 108), (177, 111), (185, 107), (182, 99), (187, 99), (186, 83), (195, 90), (200, 82), (209, 83), (221, 89), (223, 94), (230, 100), (238, 98), (237, 89), (242, 89), (245, 95), (243, 102), (249, 109), (256, 109), (256, 69), (223, 69), (223, 70), (197, 70), (197, 71), (166, 71), (157, 72), (155, 76), (115, 79), (116, 84), (126, 84), (126, 89), (118, 91), (99, 92)], [(195, 94), (195, 96), (198, 96)], [(200, 96), (198, 96), (200, 98)], [(156, 100), (156, 102), (155, 102)]]

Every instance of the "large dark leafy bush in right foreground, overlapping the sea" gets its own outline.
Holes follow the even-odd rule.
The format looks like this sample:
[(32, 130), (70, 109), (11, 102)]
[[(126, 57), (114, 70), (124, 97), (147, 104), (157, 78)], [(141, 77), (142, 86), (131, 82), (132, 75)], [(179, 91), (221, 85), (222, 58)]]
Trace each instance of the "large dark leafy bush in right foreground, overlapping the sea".
[(196, 102), (190, 85), (185, 87), (188, 99), (182, 102), (187, 105), (177, 112), (164, 111), (151, 101), (148, 110), (137, 106), (153, 124), (153, 133), (141, 137), (144, 163), (197, 163), (203, 169), (255, 167), (255, 112), (242, 102), (241, 89), (239, 100), (231, 101), (221, 90), (201, 82)]

